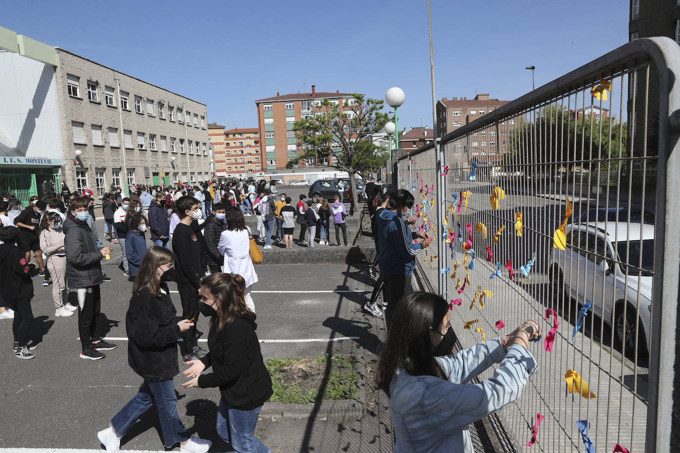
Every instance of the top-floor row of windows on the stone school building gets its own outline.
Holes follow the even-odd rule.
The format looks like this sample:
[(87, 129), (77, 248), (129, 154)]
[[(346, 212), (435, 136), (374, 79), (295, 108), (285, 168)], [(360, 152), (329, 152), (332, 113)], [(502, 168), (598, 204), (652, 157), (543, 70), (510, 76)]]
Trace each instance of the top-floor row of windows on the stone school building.
[[(77, 75), (72, 75), (72, 74), (67, 74), (66, 75), (67, 82), (68, 82), (68, 92), (69, 96), (72, 96), (74, 98), (81, 98), (80, 97), (80, 77)], [(88, 99), (92, 102), (99, 103), (99, 84), (96, 81), (88, 80), (87, 81), (87, 96)], [(104, 86), (104, 98), (105, 98), (105, 103), (109, 107), (116, 107), (116, 96), (115, 96), (115, 89), (112, 86)], [(135, 103), (135, 112), (137, 113), (145, 113), (142, 111), (143, 105), (146, 104), (146, 114), (149, 116), (156, 116), (158, 115), (158, 118), (161, 120), (166, 119), (166, 105), (165, 103), (162, 102), (157, 102), (155, 103), (155, 109), (154, 109), (154, 100), (146, 98), (145, 100), (141, 96), (137, 96), (135, 94), (134, 96), (134, 103)], [(120, 90), (120, 107), (123, 110), (131, 111), (130, 109), (130, 93)], [(193, 124), (194, 128), (199, 128), (199, 115), (198, 113), (192, 113), (190, 111), (183, 111), (182, 108), (177, 107), (177, 123), (178, 124), (184, 124), (186, 122), (187, 126), (192, 123), (193, 119)], [(167, 120), (175, 122), (175, 107), (172, 105), (167, 105)], [(202, 129), (205, 129), (205, 116), (201, 115), (200, 116), (200, 127)]]

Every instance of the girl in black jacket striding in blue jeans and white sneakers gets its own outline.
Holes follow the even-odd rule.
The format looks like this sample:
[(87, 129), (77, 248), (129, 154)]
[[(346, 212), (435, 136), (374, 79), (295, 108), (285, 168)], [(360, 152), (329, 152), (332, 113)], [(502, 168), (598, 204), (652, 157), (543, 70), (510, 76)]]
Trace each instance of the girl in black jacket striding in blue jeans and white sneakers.
[(205, 453), (211, 442), (192, 436), (177, 414), (177, 396), (173, 377), (177, 365), (177, 338), (193, 323), (177, 322), (170, 299), (168, 281), (173, 279), (173, 254), (154, 246), (141, 260), (125, 318), (129, 337), (128, 363), (143, 378), (137, 395), (112, 418), (112, 426), (99, 431), (97, 437), (107, 452), (116, 452), (120, 438), (153, 404), (158, 409), (163, 445), (171, 448), (180, 442), (182, 452)]

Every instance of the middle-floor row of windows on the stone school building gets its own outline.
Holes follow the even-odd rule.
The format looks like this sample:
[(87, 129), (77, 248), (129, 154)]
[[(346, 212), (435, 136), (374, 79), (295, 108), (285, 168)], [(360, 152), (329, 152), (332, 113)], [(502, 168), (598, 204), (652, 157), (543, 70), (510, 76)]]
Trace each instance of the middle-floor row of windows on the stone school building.
[[(71, 132), (73, 133), (73, 143), (77, 145), (87, 145), (85, 137), (85, 124), (79, 121), (71, 121)], [(106, 128), (108, 145), (112, 148), (120, 148), (120, 141), (118, 139), (118, 128)], [(133, 131), (123, 130), (123, 143), (126, 148), (134, 149), (133, 145)], [(147, 143), (148, 136), (148, 143)], [(103, 137), (103, 126), (101, 124), (90, 124), (90, 137), (92, 137), (92, 145), (105, 146)], [(185, 143), (184, 139), (175, 139), (175, 137), (168, 137), (165, 135), (156, 136), (156, 134), (146, 134), (145, 132), (137, 132), (137, 148), (150, 149), (151, 151), (171, 151), (177, 152), (177, 143), (179, 143), (180, 153), (189, 151), (190, 154), (203, 154), (207, 156), (207, 143), (189, 140)], [(148, 146), (148, 148), (147, 148)]]

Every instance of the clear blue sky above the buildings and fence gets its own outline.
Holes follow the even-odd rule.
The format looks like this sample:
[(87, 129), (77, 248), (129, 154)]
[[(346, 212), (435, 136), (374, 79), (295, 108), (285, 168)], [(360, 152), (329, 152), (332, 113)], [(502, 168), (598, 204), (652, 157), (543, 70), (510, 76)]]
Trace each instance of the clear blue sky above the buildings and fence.
[[(89, 6), (88, 6), (89, 5)], [(383, 98), (399, 126), (432, 126), (427, 1), (15, 1), (0, 25), (256, 126), (254, 100), (309, 91)], [(592, 15), (592, 13), (596, 13)], [(592, 18), (590, 18), (592, 16)], [(512, 100), (628, 41), (628, 1), (432, 0), (437, 99)]]

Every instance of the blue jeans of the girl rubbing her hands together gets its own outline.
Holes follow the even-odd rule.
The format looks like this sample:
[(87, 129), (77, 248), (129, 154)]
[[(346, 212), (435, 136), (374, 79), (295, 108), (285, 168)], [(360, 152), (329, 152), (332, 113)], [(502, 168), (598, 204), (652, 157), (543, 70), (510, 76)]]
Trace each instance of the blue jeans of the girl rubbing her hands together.
[[(269, 448), (255, 437), (257, 416), (262, 406), (252, 410), (238, 410), (220, 398), (217, 410), (217, 433), (231, 448), (240, 453), (271, 453)], [(115, 429), (115, 428), (114, 428)]]

